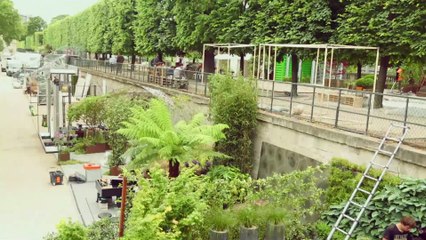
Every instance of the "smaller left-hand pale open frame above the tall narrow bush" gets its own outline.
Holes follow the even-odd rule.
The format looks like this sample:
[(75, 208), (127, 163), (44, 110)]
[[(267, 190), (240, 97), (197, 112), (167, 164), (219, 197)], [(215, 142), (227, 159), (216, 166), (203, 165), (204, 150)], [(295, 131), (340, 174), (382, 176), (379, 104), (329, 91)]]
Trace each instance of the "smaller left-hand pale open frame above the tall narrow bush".
[[(205, 56), (205, 52), (206, 52), (206, 48), (211, 47), (214, 48), (215, 50), (217, 50), (217, 53), (220, 54), (220, 50), (221, 49), (225, 49), (226, 53), (228, 55), (231, 55), (231, 50), (232, 49), (236, 49), (236, 48), (253, 48), (253, 77), (255, 76), (254, 74), (254, 70), (255, 70), (255, 61), (256, 61), (256, 52), (257, 52), (257, 45), (256, 44), (241, 44), (241, 43), (205, 43), (203, 44), (203, 65), (202, 65), (202, 69), (201, 69), (201, 81), (204, 82), (204, 56)], [(228, 59), (228, 69), (230, 68), (231, 65), (231, 60)], [(216, 67), (215, 73), (219, 73), (220, 72), (220, 66), (218, 64), (218, 66)]]

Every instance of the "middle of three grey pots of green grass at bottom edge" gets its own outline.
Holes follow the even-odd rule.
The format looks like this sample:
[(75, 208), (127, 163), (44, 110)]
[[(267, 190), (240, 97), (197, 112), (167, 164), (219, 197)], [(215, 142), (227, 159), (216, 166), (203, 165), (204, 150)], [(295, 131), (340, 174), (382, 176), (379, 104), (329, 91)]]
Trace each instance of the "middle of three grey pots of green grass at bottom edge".
[(246, 206), (236, 210), (238, 223), (240, 224), (240, 240), (257, 240), (259, 238), (258, 223), (260, 209), (258, 207)]

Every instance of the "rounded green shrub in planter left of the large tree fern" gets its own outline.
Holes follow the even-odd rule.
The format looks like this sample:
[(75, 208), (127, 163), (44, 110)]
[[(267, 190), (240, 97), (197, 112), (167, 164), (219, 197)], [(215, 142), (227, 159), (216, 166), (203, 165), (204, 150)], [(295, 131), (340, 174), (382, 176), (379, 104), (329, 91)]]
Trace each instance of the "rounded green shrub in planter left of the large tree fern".
[(83, 121), (90, 128), (101, 125), (105, 119), (105, 97), (87, 97), (68, 109), (70, 122)]

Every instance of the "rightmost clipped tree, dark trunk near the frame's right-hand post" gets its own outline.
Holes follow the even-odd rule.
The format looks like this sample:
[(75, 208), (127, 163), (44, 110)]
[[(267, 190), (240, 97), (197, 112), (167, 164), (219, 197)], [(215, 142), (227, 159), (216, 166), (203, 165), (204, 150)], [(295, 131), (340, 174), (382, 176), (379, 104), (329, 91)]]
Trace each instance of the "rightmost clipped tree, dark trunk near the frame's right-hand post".
[[(344, 44), (380, 47), (380, 71), (376, 92), (383, 93), (391, 59), (426, 56), (426, 6), (420, 0), (351, 0), (340, 15), (338, 39)], [(383, 96), (375, 95), (381, 108)]]

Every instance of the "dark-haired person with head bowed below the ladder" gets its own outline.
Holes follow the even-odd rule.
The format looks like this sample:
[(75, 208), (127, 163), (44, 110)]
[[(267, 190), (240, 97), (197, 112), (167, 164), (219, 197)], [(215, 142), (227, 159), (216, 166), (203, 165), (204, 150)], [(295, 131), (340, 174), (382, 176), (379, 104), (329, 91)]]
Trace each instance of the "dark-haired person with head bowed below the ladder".
[(386, 228), (382, 240), (413, 240), (410, 230), (414, 227), (416, 227), (416, 221), (410, 216), (404, 216), (399, 223)]

